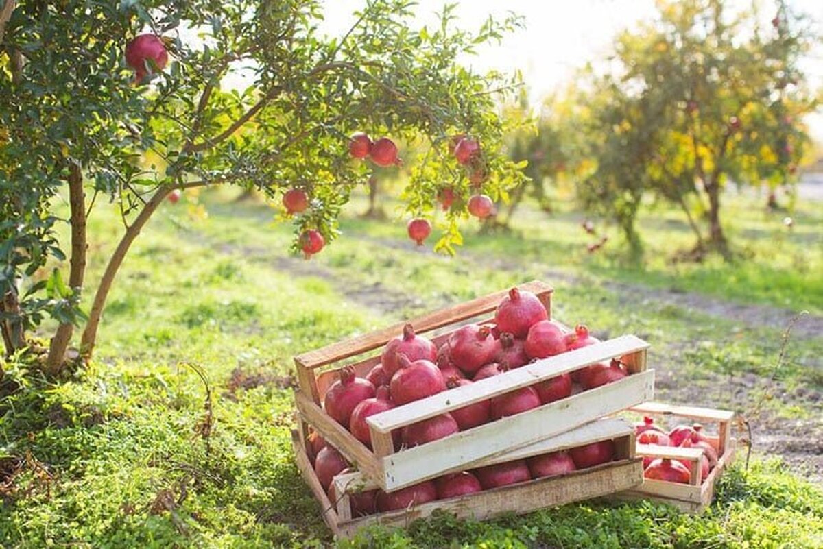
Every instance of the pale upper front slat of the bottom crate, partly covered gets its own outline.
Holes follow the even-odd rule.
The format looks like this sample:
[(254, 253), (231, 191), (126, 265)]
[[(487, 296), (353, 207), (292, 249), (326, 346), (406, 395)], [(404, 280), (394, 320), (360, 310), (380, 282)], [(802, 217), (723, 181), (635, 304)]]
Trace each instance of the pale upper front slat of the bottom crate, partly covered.
[[(607, 441), (614, 439), (616, 445), (625, 443), (626, 446), (634, 446), (634, 427), (623, 419), (603, 418), (578, 427), (573, 431), (566, 431), (557, 436), (551, 436), (534, 444), (523, 446), (517, 450), (506, 452), (505, 454), (494, 455), (481, 459), (471, 465), (471, 468), (485, 467), (486, 465), (502, 464), (515, 459), (527, 459), (535, 455), (548, 454), (560, 450), (569, 450), (577, 446), (590, 444), (592, 442)], [(621, 459), (633, 459), (635, 456), (624, 456), (621, 452), (616, 453)], [(377, 482), (367, 475), (355, 471), (335, 477), (335, 480), (342, 483), (342, 487), (355, 487), (356, 490), (374, 490), (380, 488)]]

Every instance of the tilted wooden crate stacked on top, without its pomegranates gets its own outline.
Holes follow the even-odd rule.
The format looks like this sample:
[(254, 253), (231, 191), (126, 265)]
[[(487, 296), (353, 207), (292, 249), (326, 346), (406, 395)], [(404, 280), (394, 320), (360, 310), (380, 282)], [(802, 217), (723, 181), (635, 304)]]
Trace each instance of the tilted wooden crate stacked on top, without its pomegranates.
[[(551, 316), (551, 287), (541, 282), (532, 282), (519, 288), (536, 293)], [(421, 334), (444, 326), (453, 327), (461, 321), (494, 311), (505, 294), (499, 292), (477, 298), (421, 316), (410, 323)], [(300, 390), (295, 394), (295, 401), (302, 440), (305, 441), (305, 436), (308, 436), (309, 426), (314, 427), (346, 459), (356, 464), (360, 471), (372, 477), (386, 491), (408, 487), (451, 471), (461, 471), (481, 459), (507, 454), (653, 398), (654, 371), (646, 370), (646, 350), (649, 344), (633, 335), (625, 335), (371, 416), (367, 421), (370, 424), (374, 450), (370, 450), (330, 418), (320, 403), (336, 377), (335, 372), (344, 366), (337, 362), (382, 348), (390, 339), (402, 333), (404, 324), (406, 323), (332, 344), (295, 358), (300, 380)], [(449, 334), (451, 331), (432, 339), (439, 345)], [(573, 394), (566, 399), (461, 431), (439, 441), (397, 452), (394, 449), (391, 435), (394, 430), (616, 357), (623, 357), (631, 374), (621, 381)], [(374, 356), (355, 362), (352, 366), (358, 375), (365, 376), (379, 360), (379, 356)], [(332, 363), (336, 364), (332, 370), (318, 374), (319, 368)]]

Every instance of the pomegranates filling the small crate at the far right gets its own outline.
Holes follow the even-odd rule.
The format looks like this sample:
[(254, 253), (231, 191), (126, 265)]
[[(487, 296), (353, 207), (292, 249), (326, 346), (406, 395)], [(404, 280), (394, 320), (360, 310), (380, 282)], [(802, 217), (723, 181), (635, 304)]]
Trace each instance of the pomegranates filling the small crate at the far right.
[[(700, 448), (703, 450), (701, 460), (700, 482), (703, 482), (712, 469), (718, 464), (718, 449), (706, 436), (700, 423), (693, 425), (678, 425), (666, 432), (654, 423), (652, 418), (644, 417), (642, 422), (635, 424), (635, 434), (638, 444), (653, 444), (658, 446), (680, 446), (681, 448)], [(653, 458), (646, 456), (643, 459), (644, 477), (667, 482), (690, 483), (690, 464), (687, 460)]]

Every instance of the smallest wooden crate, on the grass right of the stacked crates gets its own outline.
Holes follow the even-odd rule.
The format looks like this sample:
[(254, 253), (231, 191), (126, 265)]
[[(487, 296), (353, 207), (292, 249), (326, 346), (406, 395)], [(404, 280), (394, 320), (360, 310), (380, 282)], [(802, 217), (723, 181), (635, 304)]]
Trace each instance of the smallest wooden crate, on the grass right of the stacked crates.
[(734, 459), (734, 439), (731, 437), (734, 412), (714, 408), (696, 408), (647, 402), (630, 408), (632, 412), (647, 416), (675, 416), (704, 424), (716, 424), (717, 436), (708, 436), (709, 442), (718, 450), (718, 464), (703, 482), (700, 482), (700, 467), (704, 459), (699, 448), (677, 448), (672, 446), (637, 445), (637, 454), (654, 458), (682, 459), (689, 463), (691, 479), (689, 484), (666, 482), (644, 478), (643, 485), (619, 494), (619, 497), (644, 498), (663, 501), (677, 506), (687, 513), (700, 514), (711, 505), (714, 485)]

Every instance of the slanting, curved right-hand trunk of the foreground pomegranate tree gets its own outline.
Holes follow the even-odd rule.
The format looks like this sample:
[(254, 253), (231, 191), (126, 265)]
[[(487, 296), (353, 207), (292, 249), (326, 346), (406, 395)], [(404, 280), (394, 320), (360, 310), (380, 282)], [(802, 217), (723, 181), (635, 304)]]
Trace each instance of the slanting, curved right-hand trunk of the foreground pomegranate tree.
[(114, 277), (117, 275), (120, 265), (123, 264), (123, 259), (126, 257), (126, 253), (128, 253), (128, 248), (132, 246), (132, 242), (134, 242), (134, 239), (140, 234), (146, 221), (151, 218), (157, 206), (162, 203), (173, 188), (174, 187), (171, 186), (165, 186), (157, 189), (154, 196), (151, 196), (151, 199), (143, 206), (140, 214), (134, 219), (134, 223), (126, 229), (126, 233), (124, 233), (123, 238), (120, 239), (117, 248), (114, 250), (114, 254), (109, 258), (109, 265), (106, 265), (103, 278), (100, 279), (100, 285), (95, 292), (95, 299), (91, 304), (91, 311), (89, 312), (89, 320), (86, 322), (86, 329), (83, 330), (83, 336), (80, 342), (80, 352), (86, 360), (91, 358), (91, 353), (94, 351), (95, 340), (97, 339), (97, 327), (100, 325), (100, 316), (103, 314), (105, 300), (109, 296), (109, 290), (111, 289), (112, 283), (114, 283)]

